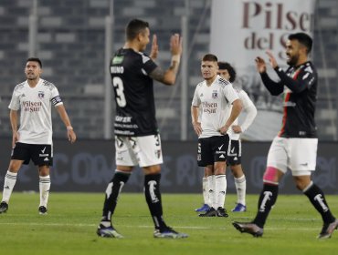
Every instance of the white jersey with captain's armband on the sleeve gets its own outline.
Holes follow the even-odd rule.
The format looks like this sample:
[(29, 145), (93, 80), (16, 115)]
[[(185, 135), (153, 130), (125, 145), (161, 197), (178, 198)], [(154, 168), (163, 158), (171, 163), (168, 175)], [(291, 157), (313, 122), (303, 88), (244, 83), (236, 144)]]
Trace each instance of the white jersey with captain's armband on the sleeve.
[(29, 87), (27, 81), (16, 85), (8, 108), (20, 109), (18, 142), (52, 144), (52, 105), (62, 105), (62, 100), (50, 82), (40, 78), (36, 87)]

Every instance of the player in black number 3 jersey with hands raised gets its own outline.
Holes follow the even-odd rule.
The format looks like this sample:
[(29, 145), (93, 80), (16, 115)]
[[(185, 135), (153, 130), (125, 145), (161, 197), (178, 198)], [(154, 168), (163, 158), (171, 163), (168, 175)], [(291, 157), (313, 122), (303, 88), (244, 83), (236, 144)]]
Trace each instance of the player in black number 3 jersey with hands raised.
[(111, 216), (123, 185), (129, 179), (134, 166), (144, 173), (144, 194), (152, 215), (155, 238), (185, 238), (168, 227), (163, 219), (160, 192), (163, 163), (161, 138), (155, 119), (153, 79), (164, 85), (174, 85), (182, 40), (178, 34), (171, 37), (171, 66), (163, 71), (153, 59), (158, 54), (157, 38), (153, 36), (151, 55), (143, 53), (149, 44), (149, 24), (133, 19), (126, 27), (126, 42), (111, 58), (111, 81), (114, 88), (116, 171), (106, 189), (102, 219), (97, 230), (100, 237), (121, 238), (111, 225)]

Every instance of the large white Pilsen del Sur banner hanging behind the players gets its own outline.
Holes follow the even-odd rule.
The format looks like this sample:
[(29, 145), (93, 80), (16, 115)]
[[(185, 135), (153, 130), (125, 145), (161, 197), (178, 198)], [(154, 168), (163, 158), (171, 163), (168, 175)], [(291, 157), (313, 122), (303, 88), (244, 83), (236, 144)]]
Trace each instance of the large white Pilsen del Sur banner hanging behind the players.
[(255, 58), (262, 56), (269, 62), (269, 50), (280, 66), (286, 66), (288, 36), (312, 35), (314, 5), (315, 0), (212, 1), (210, 52), (236, 68), (235, 86), (242, 87), (259, 110), (243, 138), (271, 140), (280, 130), (281, 97), (270, 96), (262, 85)]

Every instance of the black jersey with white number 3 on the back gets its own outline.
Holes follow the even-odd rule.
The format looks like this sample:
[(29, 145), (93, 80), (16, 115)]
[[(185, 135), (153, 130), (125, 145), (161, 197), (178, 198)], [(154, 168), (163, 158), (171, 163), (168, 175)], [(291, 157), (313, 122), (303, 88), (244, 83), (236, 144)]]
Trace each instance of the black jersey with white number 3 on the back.
[(115, 135), (142, 137), (158, 133), (153, 98), (156, 64), (143, 53), (118, 50), (111, 58), (111, 82), (116, 102)]

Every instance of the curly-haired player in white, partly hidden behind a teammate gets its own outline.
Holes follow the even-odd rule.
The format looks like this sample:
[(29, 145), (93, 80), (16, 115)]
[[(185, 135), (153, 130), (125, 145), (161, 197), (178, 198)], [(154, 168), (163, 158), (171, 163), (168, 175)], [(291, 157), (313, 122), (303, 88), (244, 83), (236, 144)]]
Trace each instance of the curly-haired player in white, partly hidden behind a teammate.
[[(231, 66), (227, 62), (218, 62), (218, 73), (219, 76), (222, 76), (229, 82), (233, 83), (236, 79), (236, 70), (233, 66)], [(247, 180), (244, 175), (242, 165), (241, 165), (241, 158), (242, 158), (242, 150), (241, 150), (241, 141), (239, 136), (248, 127), (252, 124), (253, 120), (257, 115), (257, 109), (253, 102), (248, 97), (248, 94), (241, 88), (235, 87), (236, 92), (238, 93), (238, 97), (243, 105), (243, 111), (246, 112), (246, 116), (241, 123), (238, 125), (238, 119), (234, 121), (234, 124), (228, 129), (227, 134), (230, 138), (230, 144), (228, 148), (228, 158), (227, 158), (227, 165), (230, 166), (231, 172), (235, 179), (235, 187), (238, 195), (237, 205), (231, 211), (233, 212), (243, 212), (247, 210), (246, 206), (246, 190), (247, 190)], [(228, 104), (231, 107), (231, 104)], [(231, 110), (227, 111), (228, 113)], [(203, 198), (204, 198), (204, 205), (200, 209), (195, 209), (195, 211), (206, 211), (209, 209), (208, 204), (210, 201), (208, 200), (208, 187), (207, 187), (207, 178), (206, 178), (206, 169), (205, 169), (205, 177), (202, 180), (203, 186)]]

